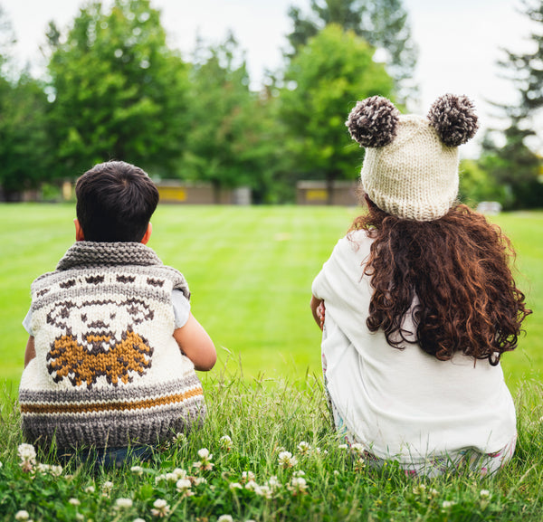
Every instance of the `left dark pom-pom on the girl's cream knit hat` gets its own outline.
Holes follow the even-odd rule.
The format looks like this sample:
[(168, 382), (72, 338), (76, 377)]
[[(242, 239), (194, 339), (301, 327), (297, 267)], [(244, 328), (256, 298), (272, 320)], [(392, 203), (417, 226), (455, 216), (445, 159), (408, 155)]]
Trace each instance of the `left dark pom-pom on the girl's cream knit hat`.
[(390, 100), (372, 96), (357, 102), (345, 125), (361, 147), (385, 147), (395, 138), (399, 116)]

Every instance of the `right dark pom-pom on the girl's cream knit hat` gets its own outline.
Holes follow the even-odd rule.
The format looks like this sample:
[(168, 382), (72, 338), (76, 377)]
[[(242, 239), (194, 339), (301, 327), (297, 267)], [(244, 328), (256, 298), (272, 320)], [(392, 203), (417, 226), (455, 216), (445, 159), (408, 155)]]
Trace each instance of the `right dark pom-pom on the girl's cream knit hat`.
[(433, 102), (428, 119), (447, 147), (466, 143), (479, 128), (472, 100), (467, 96), (441, 96)]

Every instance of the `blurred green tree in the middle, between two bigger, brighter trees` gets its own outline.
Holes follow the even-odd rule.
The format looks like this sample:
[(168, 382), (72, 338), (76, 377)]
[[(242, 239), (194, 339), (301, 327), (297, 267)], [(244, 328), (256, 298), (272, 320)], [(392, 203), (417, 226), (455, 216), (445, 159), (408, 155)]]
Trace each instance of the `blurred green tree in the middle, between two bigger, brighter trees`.
[(265, 198), (270, 152), (263, 139), (266, 107), (249, 82), (232, 34), (215, 47), (197, 42), (180, 170), (185, 178), (211, 182), (217, 201), (222, 188), (242, 185)]

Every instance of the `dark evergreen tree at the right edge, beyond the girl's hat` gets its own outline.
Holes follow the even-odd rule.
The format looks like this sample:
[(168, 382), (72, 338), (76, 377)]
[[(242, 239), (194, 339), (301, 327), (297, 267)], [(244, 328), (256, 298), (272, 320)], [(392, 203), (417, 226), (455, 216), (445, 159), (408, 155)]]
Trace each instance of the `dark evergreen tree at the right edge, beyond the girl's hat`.
[(543, 184), (538, 181), (541, 160), (526, 144), (526, 138), (535, 135), (532, 119), (543, 107), (543, 0), (523, 0), (522, 5), (534, 27), (530, 33), (532, 51), (505, 50), (506, 58), (499, 62), (500, 69), (516, 86), (519, 101), (496, 104), (502, 118), (508, 120), (508, 127), (501, 132), (487, 132), (480, 161), (481, 167), (505, 186), (504, 203), (510, 208), (543, 205)]

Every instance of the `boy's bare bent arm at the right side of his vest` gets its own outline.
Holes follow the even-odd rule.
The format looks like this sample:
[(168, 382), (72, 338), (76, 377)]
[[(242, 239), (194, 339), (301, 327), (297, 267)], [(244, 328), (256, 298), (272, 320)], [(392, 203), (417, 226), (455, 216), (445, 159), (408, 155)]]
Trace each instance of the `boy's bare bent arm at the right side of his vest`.
[(196, 370), (207, 372), (217, 360), (211, 337), (192, 313), (183, 327), (174, 330), (174, 338), (183, 353), (194, 363)]

